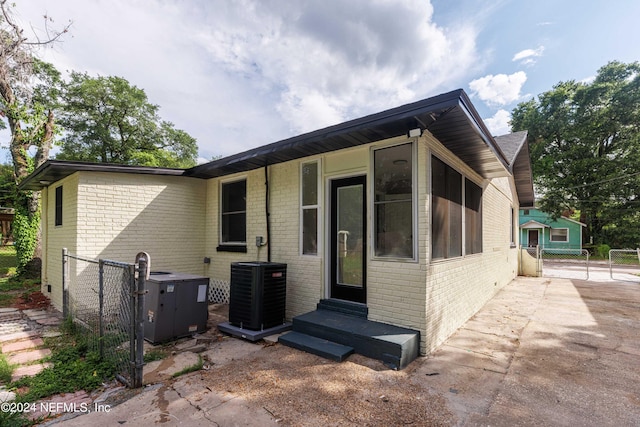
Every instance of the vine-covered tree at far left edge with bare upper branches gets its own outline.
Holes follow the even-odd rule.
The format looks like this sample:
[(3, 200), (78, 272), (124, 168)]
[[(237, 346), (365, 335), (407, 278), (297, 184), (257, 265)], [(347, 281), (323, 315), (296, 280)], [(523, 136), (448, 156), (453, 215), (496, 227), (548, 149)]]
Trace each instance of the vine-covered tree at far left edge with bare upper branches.
[[(48, 20), (45, 16), (45, 24)], [(48, 159), (54, 134), (60, 75), (51, 65), (39, 61), (35, 51), (54, 43), (70, 25), (53, 33), (45, 25), (47, 38), (30, 40), (14, 21), (7, 0), (0, 0), (0, 116), (3, 127), (8, 124), (11, 132), (9, 149), (16, 183)], [(30, 151), (35, 154), (30, 155)], [(39, 201), (39, 193), (17, 196), (14, 237), (19, 272), (24, 272), (33, 259), (36, 264), (39, 260)]]

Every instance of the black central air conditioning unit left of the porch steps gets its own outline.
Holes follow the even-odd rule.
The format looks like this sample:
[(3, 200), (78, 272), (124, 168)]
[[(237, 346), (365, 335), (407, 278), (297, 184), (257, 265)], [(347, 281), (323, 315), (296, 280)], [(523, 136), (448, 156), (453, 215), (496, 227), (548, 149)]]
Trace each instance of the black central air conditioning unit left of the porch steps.
[(261, 331), (285, 323), (287, 264), (231, 263), (229, 323)]

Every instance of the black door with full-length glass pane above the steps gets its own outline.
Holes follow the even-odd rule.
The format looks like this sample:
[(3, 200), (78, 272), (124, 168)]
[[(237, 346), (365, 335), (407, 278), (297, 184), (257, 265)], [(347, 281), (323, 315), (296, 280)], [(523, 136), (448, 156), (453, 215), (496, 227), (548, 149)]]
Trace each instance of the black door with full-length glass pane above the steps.
[(331, 298), (366, 302), (366, 176), (331, 181)]

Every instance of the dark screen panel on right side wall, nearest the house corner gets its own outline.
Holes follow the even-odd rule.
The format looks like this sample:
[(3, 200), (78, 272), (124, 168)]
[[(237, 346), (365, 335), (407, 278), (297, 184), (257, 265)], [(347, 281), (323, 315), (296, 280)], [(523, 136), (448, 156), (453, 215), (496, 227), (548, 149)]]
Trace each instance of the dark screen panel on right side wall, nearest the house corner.
[(462, 256), (462, 175), (431, 158), (432, 258)]

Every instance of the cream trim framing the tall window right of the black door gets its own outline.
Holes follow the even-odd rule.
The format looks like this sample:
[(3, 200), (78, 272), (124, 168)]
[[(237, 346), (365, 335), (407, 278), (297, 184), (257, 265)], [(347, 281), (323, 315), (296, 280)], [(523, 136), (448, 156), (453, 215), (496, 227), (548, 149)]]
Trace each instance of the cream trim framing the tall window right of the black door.
[[(411, 257), (399, 257), (399, 256), (384, 256), (376, 255), (376, 201), (375, 201), (375, 152), (386, 148), (396, 147), (399, 145), (411, 145)], [(369, 187), (369, 200), (371, 209), (371, 228), (369, 236), (371, 244), (369, 245), (370, 256), (372, 260), (376, 261), (398, 261), (398, 262), (418, 262), (418, 245), (419, 245), (419, 230), (418, 230), (418, 144), (417, 139), (405, 139), (399, 142), (380, 144), (372, 146), (370, 149), (370, 187)]]

